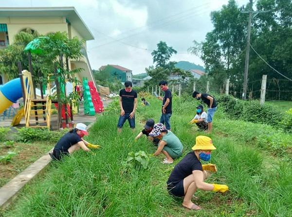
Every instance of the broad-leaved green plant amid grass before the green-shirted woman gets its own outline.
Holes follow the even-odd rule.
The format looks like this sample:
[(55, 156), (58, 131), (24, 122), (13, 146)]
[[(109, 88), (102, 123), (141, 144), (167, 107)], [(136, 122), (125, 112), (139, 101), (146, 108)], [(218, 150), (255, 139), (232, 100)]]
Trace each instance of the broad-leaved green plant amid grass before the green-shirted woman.
[(125, 166), (129, 168), (135, 169), (146, 169), (149, 164), (149, 157), (145, 153), (145, 151), (138, 151), (134, 153), (133, 151), (128, 153), (127, 161), (125, 162)]

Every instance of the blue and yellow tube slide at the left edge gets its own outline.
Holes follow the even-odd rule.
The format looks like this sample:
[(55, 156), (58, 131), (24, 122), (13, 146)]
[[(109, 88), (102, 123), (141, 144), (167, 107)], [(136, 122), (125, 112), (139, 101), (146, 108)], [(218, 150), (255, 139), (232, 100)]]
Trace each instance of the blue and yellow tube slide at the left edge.
[(0, 85), (0, 114), (20, 98), (22, 98), (20, 78)]

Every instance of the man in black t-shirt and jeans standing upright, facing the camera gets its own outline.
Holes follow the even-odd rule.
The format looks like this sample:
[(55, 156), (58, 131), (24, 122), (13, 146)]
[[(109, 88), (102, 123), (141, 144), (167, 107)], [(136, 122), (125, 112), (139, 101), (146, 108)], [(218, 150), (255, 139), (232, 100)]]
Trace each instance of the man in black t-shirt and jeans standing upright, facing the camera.
[(135, 111), (137, 108), (137, 92), (132, 90), (132, 83), (125, 82), (125, 89), (120, 90), (121, 115), (118, 122), (118, 133), (122, 132), (122, 127), (128, 120), (130, 128), (135, 129)]

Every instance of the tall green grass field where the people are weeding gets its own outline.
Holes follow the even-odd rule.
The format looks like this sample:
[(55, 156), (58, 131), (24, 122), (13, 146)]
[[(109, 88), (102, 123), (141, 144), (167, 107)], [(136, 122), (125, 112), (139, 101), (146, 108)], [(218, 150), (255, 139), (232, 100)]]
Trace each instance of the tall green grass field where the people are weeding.
[[(161, 101), (150, 100), (150, 107), (139, 107), (136, 132), (125, 124), (122, 134), (116, 133), (118, 111), (97, 119), (88, 140), (102, 149), (90, 153), (79, 151), (64, 163), (54, 163), (48, 172), (22, 191), (17, 202), (4, 217), (291, 217), (292, 164), (291, 155), (277, 154), (286, 140), (275, 142), (279, 133), (272, 127), (243, 121), (228, 120), (216, 113), (215, 131), (210, 137), (217, 150), (211, 163), (218, 172), (208, 183), (227, 184), (226, 194), (198, 191), (200, 211), (185, 210), (181, 199), (172, 198), (166, 191), (166, 180), (174, 165), (161, 164), (163, 156), (151, 157), (145, 170), (125, 170), (123, 161), (130, 151), (155, 151), (153, 145), (141, 138), (133, 139), (142, 130), (144, 121), (159, 120)], [(196, 101), (173, 102), (172, 131), (181, 139), (184, 153), (191, 151), (197, 135), (186, 123), (194, 116)], [(262, 129), (262, 130), (261, 130)], [(257, 131), (256, 131), (257, 130)], [(261, 130), (261, 131), (260, 131)], [(290, 138), (280, 132), (279, 137)], [(260, 141), (263, 142), (260, 142)], [(287, 139), (290, 140), (290, 139)], [(272, 147), (274, 146), (274, 148)], [(289, 148), (290, 143), (285, 147)], [(272, 148), (271, 148), (272, 147)], [(271, 151), (273, 150), (273, 151)], [(176, 161), (175, 163), (177, 163)], [(0, 213), (1, 214), (1, 213)]]

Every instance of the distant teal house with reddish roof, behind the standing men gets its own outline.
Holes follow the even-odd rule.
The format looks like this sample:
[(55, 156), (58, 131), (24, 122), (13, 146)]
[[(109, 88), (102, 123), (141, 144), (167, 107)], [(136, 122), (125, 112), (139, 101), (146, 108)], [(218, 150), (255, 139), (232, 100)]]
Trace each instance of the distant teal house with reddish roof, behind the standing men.
[(113, 81), (114, 78), (121, 81), (121, 83), (124, 83), (126, 81), (132, 81), (132, 70), (125, 67), (121, 67), (118, 65), (107, 65), (100, 67), (99, 71), (110, 72), (111, 81)]

